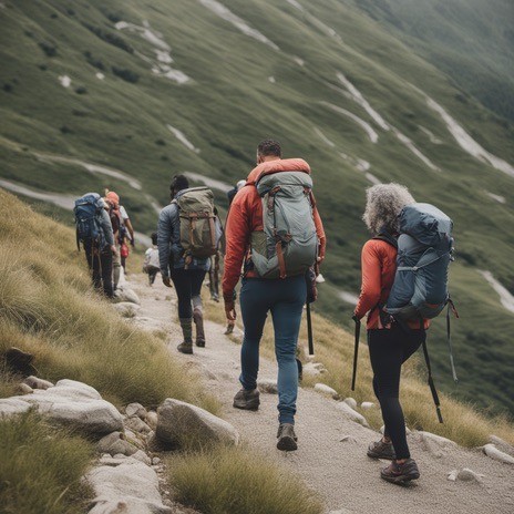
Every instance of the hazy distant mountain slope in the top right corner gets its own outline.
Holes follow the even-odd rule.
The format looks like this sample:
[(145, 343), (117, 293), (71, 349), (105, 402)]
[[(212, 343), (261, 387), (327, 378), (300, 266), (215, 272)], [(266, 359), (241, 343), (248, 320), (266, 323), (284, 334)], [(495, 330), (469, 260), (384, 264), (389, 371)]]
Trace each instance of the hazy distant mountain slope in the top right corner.
[(514, 3), (510, 0), (350, 0), (393, 29), (455, 84), (514, 121)]

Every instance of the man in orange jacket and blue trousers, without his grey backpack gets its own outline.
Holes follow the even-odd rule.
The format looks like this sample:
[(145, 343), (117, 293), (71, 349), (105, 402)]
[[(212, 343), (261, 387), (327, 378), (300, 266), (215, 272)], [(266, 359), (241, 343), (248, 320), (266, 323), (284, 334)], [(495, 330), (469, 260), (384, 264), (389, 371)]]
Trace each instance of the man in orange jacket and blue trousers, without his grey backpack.
[[(264, 176), (282, 172), (310, 174), (310, 167), (301, 158), (282, 160), (279, 143), (271, 140), (263, 141), (257, 148), (257, 167), (248, 175), (246, 185), (236, 194), (228, 213), (223, 296), (227, 319), (235, 321), (234, 291), (244, 265), (240, 308), (245, 337), (239, 378), (243, 389), (235, 395), (234, 407), (246, 410), (257, 410), (259, 407), (257, 389), (259, 342), (267, 313), (271, 311), (275, 352), (278, 361), (277, 448), (296, 450), (297, 436), (294, 431), (298, 393), (296, 347), (301, 312), (306, 302), (306, 279), (305, 275), (261, 278), (255, 270), (250, 257), (251, 236), (264, 232), (263, 199), (257, 192), (256, 183)], [(312, 218), (318, 240), (317, 259), (320, 263), (325, 257), (326, 237), (315, 204), (312, 205)]]

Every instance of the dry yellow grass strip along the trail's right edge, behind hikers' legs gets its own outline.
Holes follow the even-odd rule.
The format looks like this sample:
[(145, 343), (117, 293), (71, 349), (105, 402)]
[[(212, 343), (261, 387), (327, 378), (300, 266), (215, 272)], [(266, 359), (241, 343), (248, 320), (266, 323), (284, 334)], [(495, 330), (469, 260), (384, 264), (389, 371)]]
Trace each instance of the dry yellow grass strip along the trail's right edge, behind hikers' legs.
[[(207, 316), (216, 322), (225, 323), (223, 305), (208, 302)], [(240, 319), (238, 319), (237, 325), (243, 328)], [(342, 398), (353, 397), (359, 404), (362, 401), (378, 403), (372, 389), (372, 371), (368, 346), (366, 345), (366, 330), (363, 329), (359, 347), (357, 387), (356, 391), (351, 391), (353, 336), (317, 312), (312, 312), (312, 325), (315, 360), (321, 362), (327, 372), (318, 377), (306, 376), (304, 387), (313, 387), (317, 382), (322, 382), (333, 388)], [(306, 339), (307, 327), (304, 317), (299, 340), (304, 362), (307, 361)], [(261, 354), (270, 359), (275, 358), (270, 320), (266, 323), (264, 331)], [(407, 424), (411, 429), (433, 432), (469, 448), (485, 444), (491, 434), (498, 435), (514, 444), (514, 426), (512, 422), (501, 417), (489, 417), (481, 413), (473, 405), (455, 400), (449, 394), (440, 393), (444, 423), (439, 423), (432, 395), (426, 384), (424, 369), (424, 363), (420, 363), (417, 358), (412, 358), (402, 370), (400, 400)], [(373, 428), (379, 429), (383, 424), (380, 410), (358, 410)], [(301, 415), (301, 412), (299, 415)]]

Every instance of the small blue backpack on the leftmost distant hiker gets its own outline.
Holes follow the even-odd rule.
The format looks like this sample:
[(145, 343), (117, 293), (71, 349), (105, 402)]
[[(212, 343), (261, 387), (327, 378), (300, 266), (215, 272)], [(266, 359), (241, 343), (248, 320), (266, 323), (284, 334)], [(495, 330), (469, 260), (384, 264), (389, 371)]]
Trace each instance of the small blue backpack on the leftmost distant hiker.
[(105, 237), (100, 226), (100, 216), (103, 209), (103, 202), (100, 195), (91, 193), (75, 201), (73, 212), (76, 225), (76, 247), (80, 244), (92, 245), (96, 248), (105, 246)]

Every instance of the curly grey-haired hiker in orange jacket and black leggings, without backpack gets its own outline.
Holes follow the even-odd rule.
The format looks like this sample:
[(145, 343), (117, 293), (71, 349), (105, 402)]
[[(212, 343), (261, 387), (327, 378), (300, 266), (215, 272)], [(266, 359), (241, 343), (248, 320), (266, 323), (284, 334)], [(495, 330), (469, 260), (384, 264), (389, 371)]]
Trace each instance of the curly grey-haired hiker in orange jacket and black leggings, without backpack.
[(372, 238), (362, 248), (362, 286), (353, 316), (357, 321), (368, 313), (373, 390), (384, 422), (383, 436), (369, 445), (368, 455), (392, 461), (381, 471), (381, 477), (394, 483), (420, 476), (407, 443), (399, 389), (401, 367), (422, 345), (429, 321), (413, 319), (403, 325), (383, 310), (397, 271), (399, 214), (411, 204), (414, 198), (398, 184), (379, 184), (367, 189), (362, 219)]

